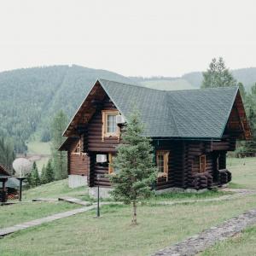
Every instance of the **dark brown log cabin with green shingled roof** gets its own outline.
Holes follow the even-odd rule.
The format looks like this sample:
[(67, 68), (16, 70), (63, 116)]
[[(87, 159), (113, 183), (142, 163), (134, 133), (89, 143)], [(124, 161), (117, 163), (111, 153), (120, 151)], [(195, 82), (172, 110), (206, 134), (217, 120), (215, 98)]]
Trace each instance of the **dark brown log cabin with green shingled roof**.
[(236, 149), (237, 139), (251, 137), (238, 88), (164, 91), (98, 79), (63, 133), (60, 150), (67, 150), (71, 187), (110, 187), (105, 174), (114, 172), (109, 163), (134, 108), (143, 136), (152, 138), (159, 168), (155, 189), (230, 182), (227, 151)]

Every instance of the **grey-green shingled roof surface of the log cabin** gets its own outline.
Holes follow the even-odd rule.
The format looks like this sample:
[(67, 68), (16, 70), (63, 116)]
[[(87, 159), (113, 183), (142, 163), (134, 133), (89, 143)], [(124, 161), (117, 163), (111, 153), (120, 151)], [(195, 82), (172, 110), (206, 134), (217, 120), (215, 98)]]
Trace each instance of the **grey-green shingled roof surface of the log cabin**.
[(147, 137), (220, 138), (237, 87), (165, 91), (98, 80), (125, 118), (137, 108)]

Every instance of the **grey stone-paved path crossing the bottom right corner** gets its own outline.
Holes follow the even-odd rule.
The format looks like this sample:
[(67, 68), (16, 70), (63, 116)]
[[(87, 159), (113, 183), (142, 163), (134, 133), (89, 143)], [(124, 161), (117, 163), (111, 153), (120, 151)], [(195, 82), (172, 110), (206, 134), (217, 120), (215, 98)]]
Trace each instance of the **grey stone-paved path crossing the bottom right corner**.
[(218, 241), (223, 241), (230, 236), (235, 236), (241, 230), (246, 229), (248, 226), (256, 224), (256, 209), (250, 210), (241, 214), (236, 218), (230, 218), (223, 224), (212, 227), (208, 230), (201, 232), (199, 235), (191, 236), (185, 241), (178, 242), (172, 247), (166, 247), (154, 256), (191, 256), (200, 253), (211, 247)]

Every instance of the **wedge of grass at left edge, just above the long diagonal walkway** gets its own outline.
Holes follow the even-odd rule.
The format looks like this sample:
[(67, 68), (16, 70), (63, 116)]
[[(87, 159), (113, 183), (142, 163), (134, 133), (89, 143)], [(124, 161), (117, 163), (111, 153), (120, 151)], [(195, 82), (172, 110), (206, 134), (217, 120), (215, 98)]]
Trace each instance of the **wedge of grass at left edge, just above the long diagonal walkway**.
[[(0, 207), (0, 229), (77, 208), (66, 202), (29, 202)], [(1, 253), (0, 253), (1, 255)]]

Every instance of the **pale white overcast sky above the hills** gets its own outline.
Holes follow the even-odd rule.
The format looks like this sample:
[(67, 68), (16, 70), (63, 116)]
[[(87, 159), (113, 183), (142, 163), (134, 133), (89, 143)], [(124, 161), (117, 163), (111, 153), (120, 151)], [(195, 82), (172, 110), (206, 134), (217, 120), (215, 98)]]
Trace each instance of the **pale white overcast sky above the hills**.
[(179, 76), (256, 67), (256, 1), (0, 0), (0, 71), (77, 64)]

